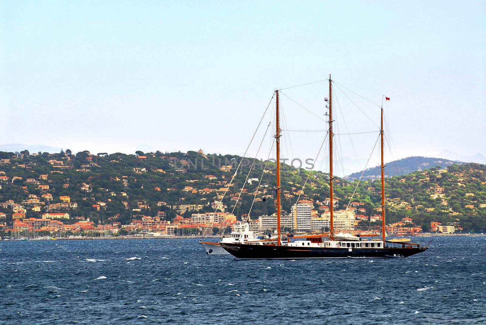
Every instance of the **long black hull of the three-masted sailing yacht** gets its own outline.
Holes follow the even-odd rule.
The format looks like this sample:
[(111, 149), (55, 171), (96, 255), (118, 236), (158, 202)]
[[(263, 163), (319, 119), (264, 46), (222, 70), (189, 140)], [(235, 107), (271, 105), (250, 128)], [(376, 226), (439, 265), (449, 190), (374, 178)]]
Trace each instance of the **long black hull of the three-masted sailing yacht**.
[(308, 258), (385, 258), (385, 255), (409, 257), (427, 250), (428, 247), (412, 248), (320, 248), (298, 246), (271, 246), (248, 244), (224, 244), (226, 251), (241, 259), (308, 259)]

